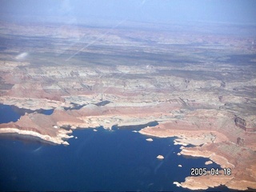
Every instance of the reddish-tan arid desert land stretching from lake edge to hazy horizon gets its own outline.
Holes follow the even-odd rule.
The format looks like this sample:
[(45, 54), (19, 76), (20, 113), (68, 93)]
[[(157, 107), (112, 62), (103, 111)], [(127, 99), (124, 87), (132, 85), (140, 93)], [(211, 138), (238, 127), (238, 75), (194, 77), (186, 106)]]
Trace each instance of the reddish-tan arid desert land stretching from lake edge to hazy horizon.
[(230, 176), (188, 175), (178, 186), (256, 189), (256, 132), (234, 122), (240, 117), (256, 127), (255, 31), (2, 22), (0, 103), (54, 112), (26, 113), (0, 124), (0, 133), (68, 145), (77, 128), (158, 122), (139, 132), (177, 137), (181, 154), (232, 170)]

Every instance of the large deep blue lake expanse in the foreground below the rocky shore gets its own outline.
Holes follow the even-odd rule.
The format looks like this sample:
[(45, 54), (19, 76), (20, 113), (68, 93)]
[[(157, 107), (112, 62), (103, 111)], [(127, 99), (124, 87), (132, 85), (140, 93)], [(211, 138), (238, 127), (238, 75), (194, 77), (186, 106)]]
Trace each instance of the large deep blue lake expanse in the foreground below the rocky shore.
[[(2, 136), (0, 190), (188, 191), (173, 182), (183, 182), (191, 167), (218, 167), (205, 166), (207, 158), (178, 156), (174, 138), (146, 142), (144, 135), (129, 129), (102, 128), (74, 130), (74, 137), (70, 146), (51, 146), (29, 137)], [(158, 160), (158, 154), (165, 159)]]

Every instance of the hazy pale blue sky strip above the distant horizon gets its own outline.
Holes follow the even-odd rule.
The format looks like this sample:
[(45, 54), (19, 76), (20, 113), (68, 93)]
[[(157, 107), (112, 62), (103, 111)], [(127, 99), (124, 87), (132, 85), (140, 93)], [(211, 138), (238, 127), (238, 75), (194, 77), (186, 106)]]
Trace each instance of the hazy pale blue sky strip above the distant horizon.
[[(256, 23), (254, 0), (0, 0), (3, 14), (138, 22)], [(1, 16), (2, 15), (2, 16)]]

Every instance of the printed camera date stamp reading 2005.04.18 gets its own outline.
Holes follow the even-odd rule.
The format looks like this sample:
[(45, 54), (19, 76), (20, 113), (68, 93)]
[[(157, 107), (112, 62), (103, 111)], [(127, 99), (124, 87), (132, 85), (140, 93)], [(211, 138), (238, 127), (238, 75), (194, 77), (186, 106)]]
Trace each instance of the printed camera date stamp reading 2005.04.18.
[(218, 168), (211, 168), (207, 170), (206, 167), (203, 168), (194, 168), (192, 167), (190, 170), (191, 176), (201, 176), (201, 175), (231, 175), (230, 168), (224, 168), (223, 170), (219, 170)]

